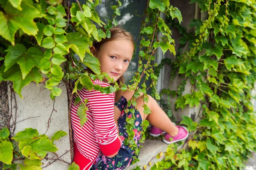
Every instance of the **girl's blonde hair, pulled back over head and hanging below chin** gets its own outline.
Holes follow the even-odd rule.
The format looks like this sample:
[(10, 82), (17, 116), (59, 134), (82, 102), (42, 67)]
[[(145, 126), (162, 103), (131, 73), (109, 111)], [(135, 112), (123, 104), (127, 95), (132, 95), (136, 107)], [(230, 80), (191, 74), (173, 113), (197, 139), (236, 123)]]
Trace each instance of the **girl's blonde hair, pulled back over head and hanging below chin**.
[[(102, 28), (102, 30), (104, 32), (106, 32), (104, 28)], [(97, 41), (93, 42), (93, 46), (95, 47), (97, 52), (99, 52), (102, 44), (104, 44), (108, 41), (117, 40), (117, 39), (128, 40), (132, 44), (132, 46), (134, 46), (134, 38), (130, 32), (126, 32), (125, 30), (118, 28), (118, 27), (113, 27), (112, 29), (109, 29), (109, 31), (111, 32), (110, 38), (106, 37), (105, 39), (101, 40), (100, 42), (97, 42)], [(122, 75), (116, 82), (118, 83), (119, 87), (121, 88), (121, 83), (125, 84), (124, 76)], [(111, 85), (113, 86), (115, 84), (111, 84)], [(116, 91), (115, 92), (115, 102), (119, 101), (121, 96), (122, 96), (122, 90)]]

